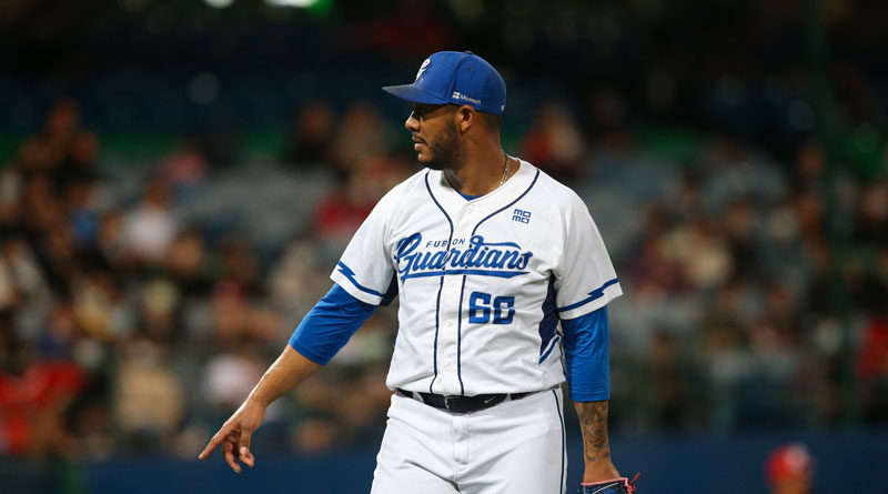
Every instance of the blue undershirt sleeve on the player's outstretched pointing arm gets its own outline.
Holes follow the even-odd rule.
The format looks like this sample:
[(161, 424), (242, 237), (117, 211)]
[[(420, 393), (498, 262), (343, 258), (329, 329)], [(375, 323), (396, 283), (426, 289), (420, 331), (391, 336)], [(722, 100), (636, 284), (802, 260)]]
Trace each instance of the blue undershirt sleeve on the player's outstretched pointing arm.
[(355, 299), (333, 283), (293, 331), (290, 346), (310, 361), (326, 365), (375, 310), (376, 305)]

